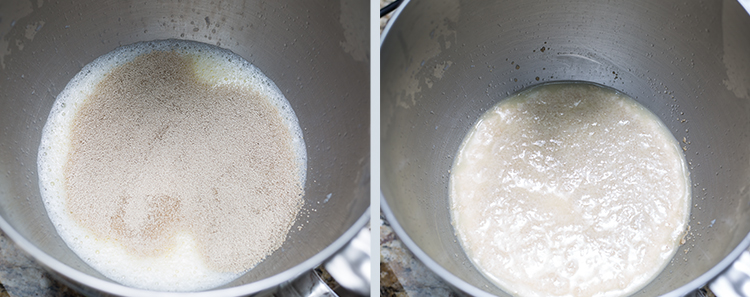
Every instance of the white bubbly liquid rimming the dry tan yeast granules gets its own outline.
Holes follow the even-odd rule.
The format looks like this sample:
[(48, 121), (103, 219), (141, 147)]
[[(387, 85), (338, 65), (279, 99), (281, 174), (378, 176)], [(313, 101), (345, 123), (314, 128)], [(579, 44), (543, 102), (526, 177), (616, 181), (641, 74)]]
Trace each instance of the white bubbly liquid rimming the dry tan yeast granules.
[[(196, 77), (207, 86), (230, 85), (232, 88), (257, 92), (259, 97), (266, 98), (278, 111), (277, 116), (281, 117), (288, 130), (291, 137), (289, 149), (296, 156), (298, 184), (300, 187), (304, 186), (306, 152), (302, 131), (291, 106), (276, 85), (260, 70), (229, 51), (202, 43), (167, 40), (124, 46), (101, 56), (86, 65), (59, 94), (44, 127), (39, 148), (41, 194), (49, 217), (62, 239), (84, 262), (106, 277), (127, 286), (150, 290), (209, 289), (236, 279), (251, 267), (237, 271), (217, 269), (215, 265), (210, 265), (205, 255), (205, 245), (208, 242), (201, 243), (195, 230), (184, 226), (171, 233), (168, 236), (169, 244), (161, 247), (158, 252), (146, 256), (134, 253), (132, 248), (125, 246), (117, 238), (97, 236), (96, 232), (84, 228), (72, 216), (73, 211), (66, 202), (68, 193), (65, 168), (72, 153), (71, 137), (79, 111), (95, 93), (99, 83), (114, 69), (141, 55), (158, 51), (187, 57)], [(217, 192), (216, 189), (213, 190)], [(295, 199), (298, 201), (290, 204), (296, 203), (299, 210), (302, 197), (300, 195)], [(291, 219), (292, 221), (278, 222), (280, 227), (276, 229), (285, 229), (284, 232), (287, 232), (293, 223), (293, 215)], [(284, 234), (286, 233), (281, 236), (285, 236)], [(231, 244), (232, 238), (217, 240), (226, 240)]]

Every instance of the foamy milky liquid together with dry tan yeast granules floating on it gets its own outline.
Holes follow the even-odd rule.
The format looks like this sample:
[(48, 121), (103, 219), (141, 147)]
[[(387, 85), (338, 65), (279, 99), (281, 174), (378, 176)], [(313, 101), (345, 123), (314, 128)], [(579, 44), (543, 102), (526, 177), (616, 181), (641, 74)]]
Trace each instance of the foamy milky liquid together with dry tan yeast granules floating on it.
[(260, 70), (188, 41), (124, 46), (55, 101), (39, 180), (67, 245), (124, 285), (225, 284), (284, 242), (306, 155), (291, 106)]

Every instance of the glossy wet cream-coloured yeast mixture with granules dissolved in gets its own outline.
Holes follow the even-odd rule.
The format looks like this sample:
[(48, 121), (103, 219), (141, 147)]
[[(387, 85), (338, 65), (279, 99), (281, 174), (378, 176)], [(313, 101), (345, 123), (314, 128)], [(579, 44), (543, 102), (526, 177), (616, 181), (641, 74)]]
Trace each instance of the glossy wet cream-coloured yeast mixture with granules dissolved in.
[(547, 84), (488, 110), (453, 166), (452, 223), (516, 296), (623, 296), (667, 265), (690, 204), (685, 159), (635, 100)]

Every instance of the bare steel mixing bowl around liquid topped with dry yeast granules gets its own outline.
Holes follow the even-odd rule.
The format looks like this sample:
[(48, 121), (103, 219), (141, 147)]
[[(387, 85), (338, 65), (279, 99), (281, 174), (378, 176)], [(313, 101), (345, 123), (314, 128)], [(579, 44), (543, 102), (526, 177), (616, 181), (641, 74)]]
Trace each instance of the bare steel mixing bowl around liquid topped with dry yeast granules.
[(36, 154), (52, 102), (85, 64), (120, 45), (189, 39), (227, 48), (271, 78), (308, 155), (305, 206), (282, 248), (203, 295), (266, 291), (319, 265), (369, 218), (367, 13), (367, 2), (350, 1), (0, 2), (0, 227), (90, 294), (171, 295), (115, 284), (67, 248), (39, 197)]

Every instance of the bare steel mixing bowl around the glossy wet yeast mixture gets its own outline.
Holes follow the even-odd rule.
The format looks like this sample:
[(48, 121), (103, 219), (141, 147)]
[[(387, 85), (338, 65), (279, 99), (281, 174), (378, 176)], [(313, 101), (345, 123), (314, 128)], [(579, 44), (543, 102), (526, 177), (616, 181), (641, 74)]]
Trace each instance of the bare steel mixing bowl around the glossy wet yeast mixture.
[(456, 289), (509, 296), (453, 233), (448, 179), (458, 146), (487, 108), (526, 87), (610, 86), (659, 116), (686, 150), (687, 241), (635, 296), (686, 295), (750, 245), (748, 49), (750, 16), (734, 0), (408, 1), (381, 45), (383, 212)]

